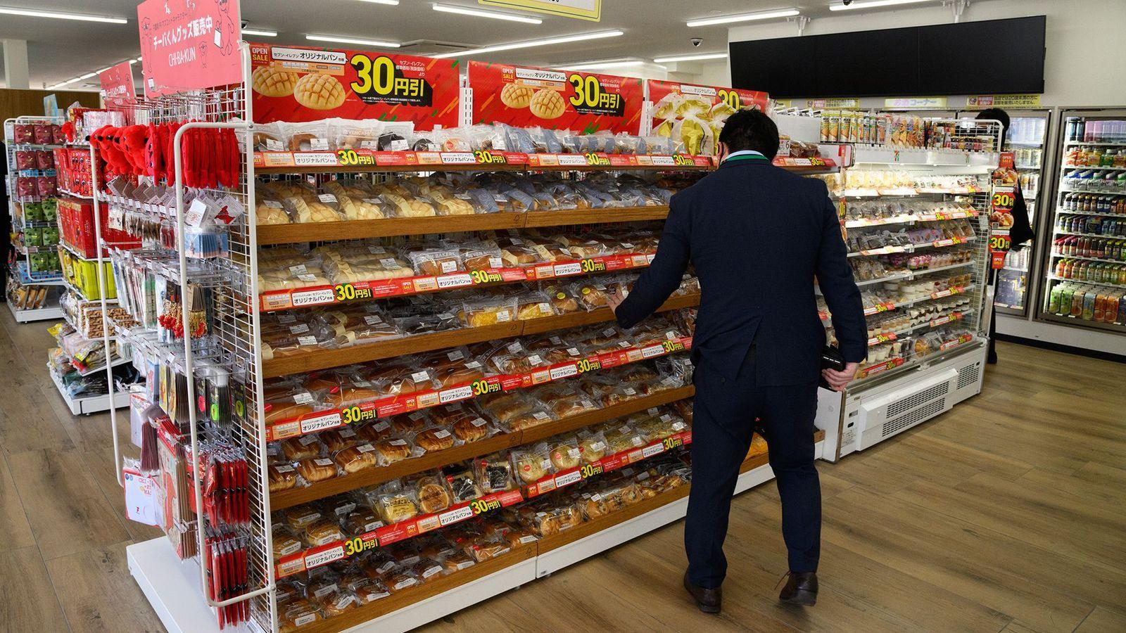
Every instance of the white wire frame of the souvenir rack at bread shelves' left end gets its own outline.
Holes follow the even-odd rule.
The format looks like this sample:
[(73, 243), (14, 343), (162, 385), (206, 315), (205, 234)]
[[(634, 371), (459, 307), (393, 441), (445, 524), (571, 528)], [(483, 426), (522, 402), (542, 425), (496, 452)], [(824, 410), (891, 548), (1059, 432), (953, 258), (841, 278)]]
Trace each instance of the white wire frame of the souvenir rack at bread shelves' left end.
[[(250, 77), (250, 57), (247, 45), (242, 44), (242, 57), (244, 72), (243, 77)], [(221, 87), (209, 90), (181, 92), (159, 99), (140, 100), (124, 109), (127, 124), (164, 124), (182, 123), (175, 136), (173, 152), (176, 157), (176, 243), (179, 246), (176, 251), (155, 251), (152, 249), (144, 251), (116, 251), (111, 257), (145, 258), (149, 269), (163, 276), (169, 283), (180, 287), (181, 296), (190, 296), (190, 284), (200, 284), (209, 288), (214, 305), (214, 330), (208, 333), (207, 340), (196, 340), (190, 335), (184, 336), (182, 341), (176, 344), (159, 342), (153, 337), (146, 337), (143, 330), (128, 332), (125, 340), (138, 348), (142, 356), (151, 355), (160, 358), (162, 363), (171, 364), (184, 376), (189, 378), (195, 375), (195, 365), (202, 362), (220, 364), (232, 375), (244, 376), (245, 384), (245, 409), (242, 416), (232, 417), (230, 425), (214, 425), (206, 420), (197, 419), (196, 408), (187, 407), (190, 455), (199, 455), (202, 440), (224, 440), (229, 445), (239, 447), (242, 457), (245, 460), (249, 470), (248, 505), (249, 505), (249, 527), (242, 534), (248, 546), (249, 583), (241, 595), (216, 600), (208, 597), (207, 583), (208, 572), (204, 561), (198, 560), (202, 554), (197, 554), (196, 564), (198, 569), (194, 573), (198, 581), (194, 588), (195, 592), (204, 599), (208, 609), (224, 607), (236, 603), (250, 600), (251, 621), (266, 631), (276, 630), (276, 600), (274, 599), (274, 569), (271, 564), (271, 534), (269, 525), (269, 490), (266, 475), (266, 442), (262, 420), (262, 384), (261, 376), (261, 349), (258, 337), (258, 312), (254, 301), (257, 293), (257, 238), (253, 222), (253, 213), (245, 215), (245, 220), (240, 220), (229, 228), (229, 255), (220, 259), (207, 261), (189, 259), (184, 248), (185, 241), (185, 187), (182, 185), (181, 166), (181, 141), (184, 134), (194, 128), (220, 128), (229, 127), (238, 131), (242, 136), (240, 143), (244, 148), (252, 145), (250, 137), (250, 126), (245, 123), (251, 119), (251, 102), (249, 84), (247, 82)], [(91, 164), (97, 166), (97, 150), (91, 146)], [(215, 194), (234, 196), (244, 209), (253, 209), (253, 187), (249, 182), (253, 178), (253, 161), (249, 152), (243, 152), (245, 167), (242, 170), (239, 186), (221, 189), (196, 189), (197, 194)], [(97, 170), (95, 169), (93, 190), (99, 191), (101, 184), (97, 181)], [(114, 204), (102, 202), (100, 196), (95, 196), (95, 216), (99, 214), (101, 204)], [(106, 244), (101, 237), (100, 224), (95, 222), (97, 229), (97, 242)], [(107, 261), (101, 249), (98, 252), (98, 282), (101, 295), (106, 295), (106, 279), (104, 278), (102, 264)], [(108, 307), (102, 298), (102, 310)], [(184, 323), (190, 321), (189, 302), (182, 301)], [(109, 319), (104, 319), (104, 338), (108, 347), (110, 341)], [(107, 372), (110, 372), (107, 368)], [(110, 389), (113, 390), (113, 376), (109, 376)], [(195, 381), (186, 381), (187, 400), (194, 402), (196, 398)], [(113, 391), (111, 391), (113, 393)], [(120, 482), (122, 452), (117, 445), (117, 414), (110, 411), (114, 433), (114, 458), (115, 470)], [(191, 469), (194, 484), (195, 508), (203, 508), (200, 469)], [(213, 527), (206, 514), (197, 512), (194, 525), (184, 526), (189, 531), (185, 537), (195, 538), (197, 552), (203, 552), (202, 544), (213, 534)], [(168, 544), (164, 544), (169, 549)], [(163, 599), (175, 599), (164, 596)], [(155, 605), (157, 601), (154, 600)], [(206, 621), (206, 619), (205, 619)], [(214, 616), (211, 617), (211, 625), (214, 626)]]

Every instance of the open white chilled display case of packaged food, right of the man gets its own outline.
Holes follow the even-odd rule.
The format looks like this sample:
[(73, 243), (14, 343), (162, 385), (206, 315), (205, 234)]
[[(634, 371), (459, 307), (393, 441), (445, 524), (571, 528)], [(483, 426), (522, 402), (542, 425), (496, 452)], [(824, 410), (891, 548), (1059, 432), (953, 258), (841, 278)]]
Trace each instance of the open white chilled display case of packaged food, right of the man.
[(1001, 126), (922, 122), (928, 141), (918, 146), (856, 144), (835, 182), (869, 336), (857, 380), (842, 394), (820, 392), (817, 426), (839, 445), (835, 457), (981, 390), (992, 301), (990, 175)]

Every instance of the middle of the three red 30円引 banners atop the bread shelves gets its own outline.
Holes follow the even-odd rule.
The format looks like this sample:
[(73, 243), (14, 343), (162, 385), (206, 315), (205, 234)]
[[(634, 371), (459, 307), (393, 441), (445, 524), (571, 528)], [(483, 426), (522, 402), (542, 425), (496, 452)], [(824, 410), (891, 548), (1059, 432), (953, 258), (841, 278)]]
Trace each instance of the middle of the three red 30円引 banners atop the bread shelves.
[(470, 62), (473, 123), (637, 134), (641, 79)]

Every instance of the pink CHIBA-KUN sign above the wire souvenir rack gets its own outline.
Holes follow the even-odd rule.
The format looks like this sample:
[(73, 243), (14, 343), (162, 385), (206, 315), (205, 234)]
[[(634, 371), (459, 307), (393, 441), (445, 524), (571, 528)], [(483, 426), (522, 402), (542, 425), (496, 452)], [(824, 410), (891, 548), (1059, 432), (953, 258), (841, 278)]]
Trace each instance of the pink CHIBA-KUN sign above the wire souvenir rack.
[(242, 81), (239, 0), (145, 0), (137, 7), (146, 97)]

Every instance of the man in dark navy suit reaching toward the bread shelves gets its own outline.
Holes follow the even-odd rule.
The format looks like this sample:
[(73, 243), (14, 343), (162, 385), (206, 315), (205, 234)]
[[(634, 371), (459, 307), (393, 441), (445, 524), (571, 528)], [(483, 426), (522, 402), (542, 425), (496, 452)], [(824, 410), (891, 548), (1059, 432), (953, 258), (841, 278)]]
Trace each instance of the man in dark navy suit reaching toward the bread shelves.
[[(789, 579), (779, 599), (813, 605), (821, 488), (813, 465), (817, 377), (841, 390), (867, 355), (867, 326), (840, 220), (824, 182), (770, 162), (778, 127), (758, 110), (727, 119), (726, 160), (672, 198), (656, 258), (628, 297), (610, 297), (626, 328), (653, 313), (691, 262), (700, 282), (692, 340), (692, 489), (685, 521), (685, 588), (718, 613), (723, 541), (740, 464), (761, 420), (783, 507)], [(814, 278), (847, 366), (821, 369), (825, 330)]]

